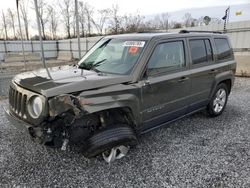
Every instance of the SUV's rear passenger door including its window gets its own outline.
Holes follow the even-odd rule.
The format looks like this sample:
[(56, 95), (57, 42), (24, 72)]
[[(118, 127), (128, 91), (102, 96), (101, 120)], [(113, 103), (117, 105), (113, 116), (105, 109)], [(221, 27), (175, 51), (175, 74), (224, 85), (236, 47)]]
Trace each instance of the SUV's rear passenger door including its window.
[(213, 68), (214, 52), (212, 50), (211, 38), (190, 38), (188, 39), (190, 51), (190, 79), (191, 97), (188, 112), (206, 106), (215, 80)]

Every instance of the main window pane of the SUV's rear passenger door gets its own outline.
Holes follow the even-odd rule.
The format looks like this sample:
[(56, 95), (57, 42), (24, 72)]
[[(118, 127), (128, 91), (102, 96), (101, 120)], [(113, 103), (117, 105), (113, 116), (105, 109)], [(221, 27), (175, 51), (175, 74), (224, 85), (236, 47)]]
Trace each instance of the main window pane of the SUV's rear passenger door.
[(190, 40), (190, 48), (193, 64), (204, 63), (207, 61), (205, 40)]

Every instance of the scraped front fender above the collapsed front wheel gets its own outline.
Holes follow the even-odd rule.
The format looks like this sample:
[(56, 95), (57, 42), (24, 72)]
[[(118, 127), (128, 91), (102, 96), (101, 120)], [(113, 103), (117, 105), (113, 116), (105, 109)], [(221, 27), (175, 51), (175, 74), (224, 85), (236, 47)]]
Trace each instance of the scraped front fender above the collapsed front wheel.
[(114, 108), (129, 108), (136, 123), (140, 123), (140, 87), (136, 84), (117, 84), (82, 92), (78, 98), (88, 113)]

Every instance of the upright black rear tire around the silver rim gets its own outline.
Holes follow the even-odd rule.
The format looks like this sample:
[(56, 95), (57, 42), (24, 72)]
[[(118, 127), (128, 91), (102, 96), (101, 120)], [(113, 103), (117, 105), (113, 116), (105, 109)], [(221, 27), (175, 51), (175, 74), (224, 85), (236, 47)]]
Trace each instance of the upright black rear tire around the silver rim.
[[(225, 95), (225, 103), (224, 103), (223, 107), (221, 108), (221, 110), (216, 111), (215, 106), (214, 106), (214, 101), (216, 100), (216, 95), (217, 95), (217, 92), (219, 90), (220, 91), (224, 90), (225, 93), (226, 93), (226, 95)], [(211, 100), (210, 100), (210, 102), (209, 102), (209, 104), (207, 106), (207, 112), (208, 112), (209, 116), (216, 117), (216, 116), (219, 116), (219, 115), (222, 114), (222, 112), (224, 111), (224, 109), (225, 109), (225, 107), (227, 105), (228, 91), (229, 91), (229, 89), (228, 89), (226, 84), (221, 83), (221, 84), (217, 85), (217, 87), (216, 87), (216, 89), (214, 91), (214, 94), (213, 94), (213, 96), (212, 96), (212, 98), (211, 98)]]

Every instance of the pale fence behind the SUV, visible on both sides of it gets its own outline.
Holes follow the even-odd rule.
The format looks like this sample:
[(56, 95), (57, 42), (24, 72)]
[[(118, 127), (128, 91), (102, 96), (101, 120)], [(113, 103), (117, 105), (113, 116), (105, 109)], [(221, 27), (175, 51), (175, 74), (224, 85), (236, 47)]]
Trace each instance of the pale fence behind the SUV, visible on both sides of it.
[[(223, 31), (223, 24), (185, 29)], [(180, 29), (175, 29), (170, 32), (178, 32), (179, 30)], [(238, 67), (244, 71), (246, 67), (248, 67), (247, 70), (249, 69), (250, 73), (250, 21), (229, 23), (226, 34), (231, 40), (237, 61), (242, 61), (238, 62)], [(101, 37), (81, 38), (81, 55), (83, 56), (100, 38)], [(77, 39), (43, 41), (43, 45), (48, 66), (68, 64), (72, 62), (70, 60), (79, 58)], [(21, 41), (0, 41), (0, 96), (7, 95), (8, 85), (13, 75), (18, 72), (42, 67), (42, 63), (37, 61), (41, 59), (39, 41), (24, 41), (24, 51), (26, 60), (29, 60), (26, 66), (24, 66), (25, 63), (22, 58)], [(36, 61), (32, 61), (32, 58), (37, 59)], [(63, 61), (63, 59), (67, 61)], [(11, 63), (11, 61), (16, 61), (16, 63)]]

